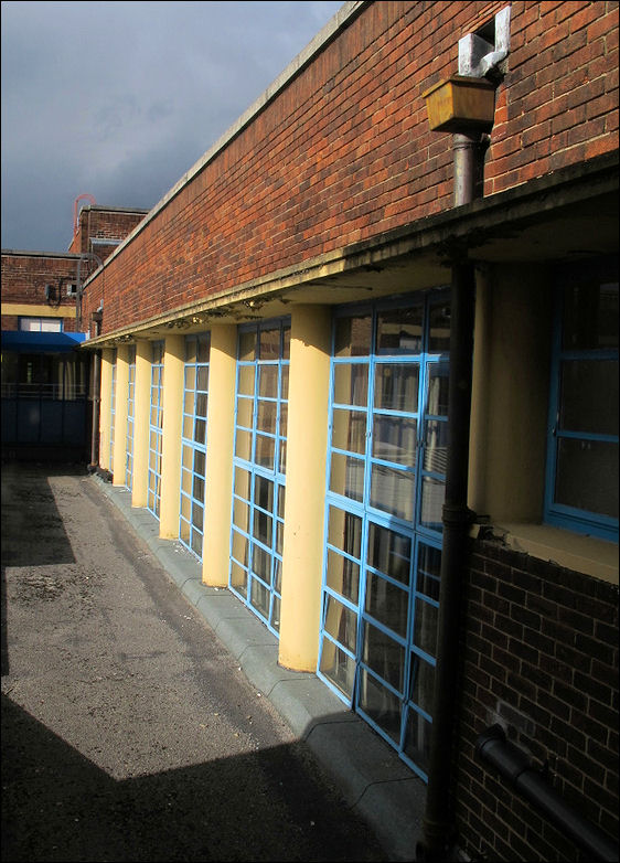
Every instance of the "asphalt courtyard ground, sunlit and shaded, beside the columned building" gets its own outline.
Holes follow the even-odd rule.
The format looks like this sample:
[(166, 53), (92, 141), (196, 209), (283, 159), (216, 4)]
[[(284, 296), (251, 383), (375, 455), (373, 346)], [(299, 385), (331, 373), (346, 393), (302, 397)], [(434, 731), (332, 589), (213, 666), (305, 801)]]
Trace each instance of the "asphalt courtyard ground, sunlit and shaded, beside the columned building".
[(2, 861), (391, 856), (78, 468), (2, 467)]

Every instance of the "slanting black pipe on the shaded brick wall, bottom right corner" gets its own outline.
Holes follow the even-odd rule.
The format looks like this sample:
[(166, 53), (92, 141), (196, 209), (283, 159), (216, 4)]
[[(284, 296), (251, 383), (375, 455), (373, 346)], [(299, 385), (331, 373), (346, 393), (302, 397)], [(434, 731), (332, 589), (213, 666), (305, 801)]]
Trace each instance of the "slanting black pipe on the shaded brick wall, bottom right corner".
[(515, 791), (554, 823), (563, 833), (588, 854), (588, 860), (617, 863), (618, 845), (599, 828), (587, 821), (555, 791), (534, 767), (522, 749), (506, 741), (503, 728), (493, 725), (479, 735), (475, 754), (495, 767)]

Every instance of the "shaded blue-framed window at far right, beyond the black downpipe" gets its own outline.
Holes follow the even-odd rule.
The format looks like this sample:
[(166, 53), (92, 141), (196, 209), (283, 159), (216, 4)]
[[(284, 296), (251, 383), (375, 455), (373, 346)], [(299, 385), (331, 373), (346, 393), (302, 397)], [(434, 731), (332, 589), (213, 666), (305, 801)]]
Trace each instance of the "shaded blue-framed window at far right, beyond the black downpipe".
[(618, 542), (618, 263), (573, 268), (562, 281), (555, 298), (545, 520)]

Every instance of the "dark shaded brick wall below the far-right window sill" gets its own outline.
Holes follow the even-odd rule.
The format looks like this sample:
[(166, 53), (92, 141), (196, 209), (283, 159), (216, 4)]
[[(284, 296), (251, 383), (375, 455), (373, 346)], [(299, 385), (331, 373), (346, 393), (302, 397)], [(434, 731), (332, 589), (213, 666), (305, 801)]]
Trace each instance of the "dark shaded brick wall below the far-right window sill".
[(618, 586), (485, 541), (466, 593), (459, 844), (473, 860), (578, 860), (475, 739), (499, 713), (568, 806), (618, 838)]

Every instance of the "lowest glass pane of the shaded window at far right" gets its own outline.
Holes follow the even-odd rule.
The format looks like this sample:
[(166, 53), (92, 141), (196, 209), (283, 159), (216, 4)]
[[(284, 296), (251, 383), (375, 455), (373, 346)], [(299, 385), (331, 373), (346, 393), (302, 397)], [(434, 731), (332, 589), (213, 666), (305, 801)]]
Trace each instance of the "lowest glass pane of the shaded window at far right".
[(555, 502), (618, 518), (618, 444), (558, 440)]

